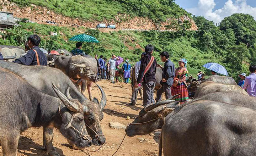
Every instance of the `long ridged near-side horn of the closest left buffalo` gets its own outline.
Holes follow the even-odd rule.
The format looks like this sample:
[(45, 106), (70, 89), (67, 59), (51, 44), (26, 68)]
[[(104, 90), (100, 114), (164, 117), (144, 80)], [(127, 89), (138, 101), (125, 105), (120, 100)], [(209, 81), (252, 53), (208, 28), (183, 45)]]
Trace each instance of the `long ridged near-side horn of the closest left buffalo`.
[(79, 110), (78, 105), (69, 101), (68, 98), (52, 83), (52, 88), (55, 93), (58, 95), (59, 99), (63, 102), (63, 104), (73, 112), (77, 112)]

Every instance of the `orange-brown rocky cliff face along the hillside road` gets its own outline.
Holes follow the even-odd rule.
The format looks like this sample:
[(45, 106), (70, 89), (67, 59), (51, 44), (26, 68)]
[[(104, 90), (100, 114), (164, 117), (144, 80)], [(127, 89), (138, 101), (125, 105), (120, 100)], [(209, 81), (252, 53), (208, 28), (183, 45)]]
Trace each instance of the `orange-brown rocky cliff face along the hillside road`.
[[(116, 24), (117, 29), (143, 29), (143, 30), (152, 30), (156, 29), (156, 25), (154, 22), (148, 18), (142, 17), (134, 17), (129, 18), (129, 20), (121, 21), (119, 17), (116, 17), (116, 21), (84, 21), (78, 18), (70, 18), (65, 17), (63, 15), (59, 15), (54, 13), (53, 11), (48, 10), (46, 7), (40, 7), (36, 5), (31, 5), (30, 7), (20, 8), (15, 3), (11, 3), (7, 0), (0, 0), (0, 4), (3, 4), (0, 7), (1, 11), (7, 11), (14, 13), (14, 17), (18, 18), (28, 18), (30, 21), (40, 23), (40, 24), (47, 24), (47, 22), (55, 22), (58, 26), (84, 26), (88, 28), (95, 28), (98, 23), (106, 23), (106, 24)], [(188, 20), (191, 22), (190, 30), (197, 30), (196, 23), (193, 19), (190, 19), (187, 16), (180, 17), (181, 21)], [(164, 26), (170, 24), (170, 21), (161, 23), (163, 27), (160, 29), (165, 29)]]

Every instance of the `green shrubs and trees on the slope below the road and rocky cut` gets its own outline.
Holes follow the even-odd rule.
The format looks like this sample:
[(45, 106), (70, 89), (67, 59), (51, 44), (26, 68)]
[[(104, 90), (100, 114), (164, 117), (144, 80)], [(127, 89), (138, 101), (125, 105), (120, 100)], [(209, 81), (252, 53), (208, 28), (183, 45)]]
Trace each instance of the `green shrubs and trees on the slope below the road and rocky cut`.
[[(68, 41), (73, 35), (86, 33), (96, 37), (100, 43), (84, 43), (83, 50), (90, 55), (103, 55), (110, 58), (112, 54), (130, 59), (132, 65), (139, 60), (147, 44), (155, 46), (154, 56), (159, 64), (159, 54), (168, 51), (171, 60), (178, 66), (178, 60), (188, 60), (188, 71), (196, 77), (199, 70), (209, 73), (203, 64), (207, 62), (220, 63), (228, 70), (230, 76), (238, 79), (241, 72), (249, 73), (248, 67), (256, 64), (256, 21), (251, 15), (234, 14), (224, 18), (216, 27), (211, 21), (199, 16), (194, 17), (199, 30), (187, 31), (189, 23), (172, 24), (177, 31), (114, 31), (102, 33), (95, 29), (83, 27), (58, 27), (46, 24), (23, 23), (22, 27), (7, 30), (0, 39), (0, 44), (23, 46), (24, 38), (37, 33), (42, 37), (41, 46), (54, 50), (57, 47), (71, 51), (75, 42)], [(57, 32), (58, 36), (50, 37), (49, 31)]]

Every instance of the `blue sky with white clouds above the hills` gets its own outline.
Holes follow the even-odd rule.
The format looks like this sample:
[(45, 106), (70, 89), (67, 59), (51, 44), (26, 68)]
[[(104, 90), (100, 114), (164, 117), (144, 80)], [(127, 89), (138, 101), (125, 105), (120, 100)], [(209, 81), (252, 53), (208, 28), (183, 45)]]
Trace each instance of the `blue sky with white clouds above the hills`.
[(186, 11), (214, 23), (233, 13), (250, 14), (256, 20), (256, 0), (175, 0)]

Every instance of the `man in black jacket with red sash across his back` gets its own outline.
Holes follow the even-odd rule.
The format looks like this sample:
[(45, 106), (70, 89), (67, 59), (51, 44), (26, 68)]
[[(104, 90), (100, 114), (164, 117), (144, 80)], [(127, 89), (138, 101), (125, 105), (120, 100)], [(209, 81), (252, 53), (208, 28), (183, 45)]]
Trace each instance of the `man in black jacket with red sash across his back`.
[(155, 88), (155, 73), (156, 73), (156, 60), (154, 59), (152, 65), (149, 67), (149, 70), (145, 73), (146, 66), (149, 64), (152, 53), (154, 51), (154, 46), (151, 44), (146, 45), (145, 47), (145, 56), (141, 60), (139, 75), (135, 87), (138, 88), (139, 83), (143, 84), (143, 106), (146, 106), (151, 103), (155, 103), (154, 100), (154, 88)]

